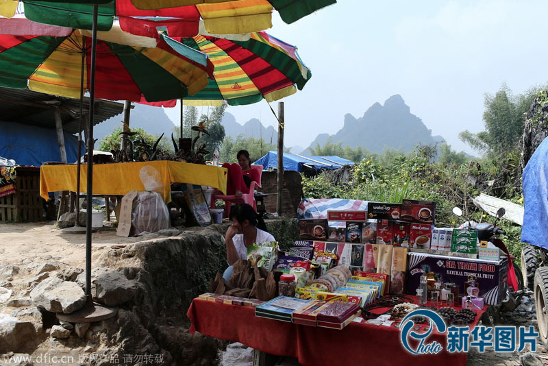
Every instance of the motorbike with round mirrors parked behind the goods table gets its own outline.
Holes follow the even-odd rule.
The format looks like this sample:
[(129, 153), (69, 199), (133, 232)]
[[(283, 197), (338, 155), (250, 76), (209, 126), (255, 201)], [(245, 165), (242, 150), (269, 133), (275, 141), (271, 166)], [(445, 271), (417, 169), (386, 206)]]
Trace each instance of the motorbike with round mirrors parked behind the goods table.
[[(488, 241), (493, 243), (495, 247), (499, 248), (501, 252), (506, 254), (508, 257), (508, 271), (507, 271), (507, 280), (503, 284), (504, 292), (506, 296), (503, 297), (501, 302), (497, 305), (490, 305), (487, 308), (487, 311), (482, 315), (482, 323), (487, 326), (495, 326), (496, 324), (501, 323), (501, 311), (503, 310), (514, 310), (520, 301), (521, 297), (525, 290), (523, 289), (523, 276), (519, 267), (516, 270), (516, 264), (514, 260), (516, 259), (510, 252), (506, 245), (499, 239), (497, 236), (500, 234), (506, 234), (504, 230), (497, 226), (497, 220), (504, 216), (506, 210), (501, 207), (497, 210), (497, 215), (495, 223), (475, 223), (470, 219), (466, 220), (466, 223), (461, 225), (463, 228), (470, 228), (477, 231), (477, 239), (481, 241)], [(453, 208), (453, 214), (462, 217), (462, 210), (458, 207)]]

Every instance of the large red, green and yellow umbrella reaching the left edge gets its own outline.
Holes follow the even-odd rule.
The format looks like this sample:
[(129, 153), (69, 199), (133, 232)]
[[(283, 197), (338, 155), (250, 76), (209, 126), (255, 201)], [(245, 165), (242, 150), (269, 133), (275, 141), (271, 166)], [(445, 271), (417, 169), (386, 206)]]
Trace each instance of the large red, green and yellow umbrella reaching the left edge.
[[(26, 88), (28, 82), (32, 90), (79, 98), (84, 56), (84, 88), (90, 88), (89, 32), (27, 19), (0, 19), (0, 33), (1, 86)], [(98, 98), (162, 101), (197, 93), (208, 85), (206, 56), (163, 34), (151, 40), (124, 36), (113, 27), (98, 38)]]

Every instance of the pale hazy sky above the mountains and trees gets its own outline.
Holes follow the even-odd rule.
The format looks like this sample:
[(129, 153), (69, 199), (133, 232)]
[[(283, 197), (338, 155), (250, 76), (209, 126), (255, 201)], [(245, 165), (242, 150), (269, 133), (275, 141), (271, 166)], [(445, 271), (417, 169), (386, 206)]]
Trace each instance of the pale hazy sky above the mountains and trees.
[[(547, 16), (546, 1), (523, 0), (338, 0), (292, 25), (275, 14), (267, 32), (297, 45), (312, 70), (303, 90), (282, 99), (285, 144), (308, 147), (340, 130), (346, 113), (362, 117), (399, 94), (433, 135), (473, 153), (458, 133), (484, 130), (485, 93), (548, 81)], [(276, 125), (266, 101), (227, 111), (240, 124)], [(179, 123), (178, 106), (166, 112)]]

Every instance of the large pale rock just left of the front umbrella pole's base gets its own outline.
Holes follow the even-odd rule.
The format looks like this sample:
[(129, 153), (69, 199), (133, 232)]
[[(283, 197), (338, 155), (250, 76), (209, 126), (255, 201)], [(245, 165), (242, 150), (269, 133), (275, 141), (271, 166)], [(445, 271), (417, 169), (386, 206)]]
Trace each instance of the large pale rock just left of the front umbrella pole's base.
[(86, 304), (84, 290), (60, 278), (43, 280), (30, 292), (30, 298), (36, 306), (53, 313), (70, 314)]

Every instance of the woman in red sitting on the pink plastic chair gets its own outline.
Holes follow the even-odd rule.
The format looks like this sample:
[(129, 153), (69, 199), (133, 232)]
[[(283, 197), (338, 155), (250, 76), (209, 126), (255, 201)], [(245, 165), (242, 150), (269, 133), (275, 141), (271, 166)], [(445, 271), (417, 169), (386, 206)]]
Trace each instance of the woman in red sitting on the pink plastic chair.
[(223, 168), (228, 169), (227, 195), (241, 197), (242, 193), (249, 193), (252, 181), (259, 181), (260, 172), (257, 169), (251, 169), (251, 159), (247, 150), (238, 151), (236, 158), (238, 158), (238, 164), (225, 162)]

